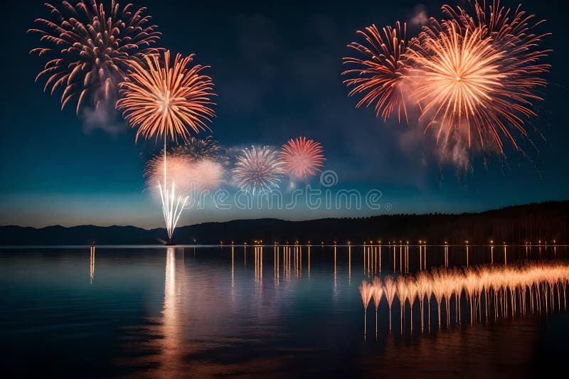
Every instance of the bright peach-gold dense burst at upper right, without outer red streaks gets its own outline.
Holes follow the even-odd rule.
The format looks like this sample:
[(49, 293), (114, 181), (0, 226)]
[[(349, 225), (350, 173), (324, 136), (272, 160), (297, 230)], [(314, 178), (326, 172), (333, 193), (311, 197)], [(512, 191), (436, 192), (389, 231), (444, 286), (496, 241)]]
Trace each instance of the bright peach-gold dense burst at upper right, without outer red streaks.
[[(414, 95), (422, 105), (422, 119), (428, 127), (437, 127), (437, 139), (460, 132), (470, 144), (471, 129), (482, 137), (486, 128), (496, 134), (504, 127), (498, 119), (507, 104), (500, 102), (507, 73), (500, 70), (504, 52), (495, 50), (482, 29), (464, 34), (454, 22), (445, 23), (432, 38), (423, 33), (420, 53), (413, 55), (418, 63)], [(518, 124), (511, 114), (504, 117)], [(506, 129), (507, 132), (507, 129)]]

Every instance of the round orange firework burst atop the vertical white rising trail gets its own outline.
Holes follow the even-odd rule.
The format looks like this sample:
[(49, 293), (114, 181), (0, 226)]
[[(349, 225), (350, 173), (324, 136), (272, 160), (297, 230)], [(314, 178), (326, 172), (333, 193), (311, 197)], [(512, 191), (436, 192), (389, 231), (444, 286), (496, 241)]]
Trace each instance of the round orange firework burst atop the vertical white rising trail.
[(171, 63), (169, 50), (164, 55), (144, 57), (148, 68), (132, 64), (132, 73), (120, 86), (121, 99), (117, 102), (131, 127), (138, 127), (137, 139), (152, 137), (176, 140), (190, 137), (206, 129), (206, 121), (215, 115), (211, 106), (213, 82), (201, 75), (208, 67), (188, 67), (193, 54), (182, 58), (176, 54)]

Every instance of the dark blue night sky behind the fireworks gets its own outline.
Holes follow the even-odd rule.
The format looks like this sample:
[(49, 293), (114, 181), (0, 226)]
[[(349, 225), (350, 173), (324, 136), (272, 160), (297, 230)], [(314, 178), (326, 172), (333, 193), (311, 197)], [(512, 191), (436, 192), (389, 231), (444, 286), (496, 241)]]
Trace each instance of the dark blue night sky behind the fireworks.
[[(569, 198), (568, 4), (523, 1), (523, 9), (547, 20), (540, 30), (553, 33), (543, 44), (553, 49), (546, 60), (552, 65), (546, 100), (538, 104), (538, 119), (526, 123), (535, 147), (522, 142), (524, 155), (508, 146), (507, 159), (477, 159), (464, 173), (438, 163), (430, 135), (410, 139), (405, 124), (384, 123), (373, 110), (356, 109), (341, 78), (341, 58), (351, 53), (346, 45), (357, 39), (358, 28), (410, 21), (421, 10), (441, 18), (443, 3), (133, 1), (147, 6), (163, 33), (161, 46), (196, 53), (196, 63), (211, 65), (208, 74), (219, 95), (211, 129), (220, 144), (280, 146), (305, 135), (324, 146), (325, 168), (339, 176), (335, 191), (383, 193), (381, 210), (206, 208), (183, 213), (181, 225), (267, 216), (457, 213)], [(159, 146), (135, 144), (134, 130), (120, 117), (103, 129), (78, 117), (73, 105), (61, 112), (60, 92), (52, 97), (43, 93), (45, 80), (34, 83), (45, 60), (28, 54), (38, 36), (26, 30), (35, 18), (48, 16), (43, 1), (11, 1), (3, 9), (0, 224), (162, 226), (160, 205), (143, 191), (142, 177), (145, 159)]]

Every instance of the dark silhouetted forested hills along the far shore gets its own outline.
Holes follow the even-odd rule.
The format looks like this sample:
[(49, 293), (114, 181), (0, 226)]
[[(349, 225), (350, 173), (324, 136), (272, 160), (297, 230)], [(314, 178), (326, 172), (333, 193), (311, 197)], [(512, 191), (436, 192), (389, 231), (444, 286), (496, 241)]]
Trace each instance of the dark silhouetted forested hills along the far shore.
[[(80, 225), (65, 228), (0, 226), (0, 245), (154, 245), (164, 243), (164, 228)], [(569, 242), (569, 201), (516, 205), (482, 213), (378, 215), (366, 218), (322, 218), (286, 221), (274, 218), (201, 223), (176, 228), (173, 242), (213, 245), (263, 240), (355, 244), (364, 240), (427, 240), (429, 243), (486, 243), (488, 240), (523, 243), (526, 240)]]

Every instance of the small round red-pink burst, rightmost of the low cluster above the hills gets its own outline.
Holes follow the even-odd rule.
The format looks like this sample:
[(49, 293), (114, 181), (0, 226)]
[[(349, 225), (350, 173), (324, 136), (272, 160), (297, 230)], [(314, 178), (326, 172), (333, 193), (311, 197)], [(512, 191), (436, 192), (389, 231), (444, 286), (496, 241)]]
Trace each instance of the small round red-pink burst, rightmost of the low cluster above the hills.
[(300, 180), (316, 175), (324, 166), (323, 151), (321, 144), (306, 137), (289, 140), (280, 153), (285, 173)]

